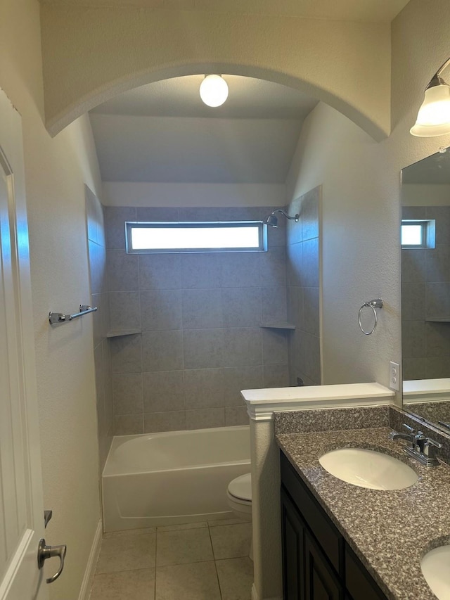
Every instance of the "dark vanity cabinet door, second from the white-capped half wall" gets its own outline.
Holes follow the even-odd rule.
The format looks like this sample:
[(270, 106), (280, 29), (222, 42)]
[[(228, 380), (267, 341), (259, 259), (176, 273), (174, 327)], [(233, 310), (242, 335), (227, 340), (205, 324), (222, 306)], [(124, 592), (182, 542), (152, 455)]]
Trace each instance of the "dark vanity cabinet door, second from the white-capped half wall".
[(305, 600), (342, 600), (343, 589), (333, 574), (328, 561), (315, 542), (305, 532)]

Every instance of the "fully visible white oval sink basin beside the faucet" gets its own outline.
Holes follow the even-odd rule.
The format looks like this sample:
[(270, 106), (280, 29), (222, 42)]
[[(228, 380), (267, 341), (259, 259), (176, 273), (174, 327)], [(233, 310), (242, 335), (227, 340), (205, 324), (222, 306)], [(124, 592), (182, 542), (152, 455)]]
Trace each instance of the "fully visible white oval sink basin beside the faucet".
[(389, 454), (364, 448), (340, 448), (323, 454), (323, 468), (342, 481), (371, 490), (404, 490), (418, 475), (407, 464)]

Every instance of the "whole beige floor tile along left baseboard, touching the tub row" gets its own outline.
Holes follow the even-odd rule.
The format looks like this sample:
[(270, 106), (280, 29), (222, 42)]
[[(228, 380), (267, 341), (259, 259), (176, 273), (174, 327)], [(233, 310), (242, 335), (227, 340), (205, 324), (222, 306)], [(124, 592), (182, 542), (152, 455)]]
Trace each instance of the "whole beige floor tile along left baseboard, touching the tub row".
[(96, 573), (153, 568), (155, 546), (155, 533), (108, 537), (101, 543)]

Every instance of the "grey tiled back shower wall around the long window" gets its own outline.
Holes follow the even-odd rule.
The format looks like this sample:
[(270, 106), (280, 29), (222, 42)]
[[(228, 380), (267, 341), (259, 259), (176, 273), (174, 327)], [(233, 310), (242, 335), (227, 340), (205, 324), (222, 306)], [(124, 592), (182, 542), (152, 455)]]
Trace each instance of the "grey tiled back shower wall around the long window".
[[(274, 207), (275, 208), (275, 207)], [(114, 433), (248, 423), (246, 388), (288, 385), (285, 219), (267, 253), (127, 255), (125, 221), (262, 220), (274, 208), (105, 207)]]

